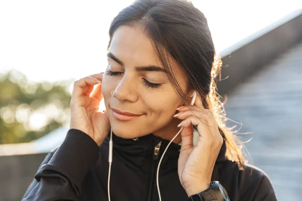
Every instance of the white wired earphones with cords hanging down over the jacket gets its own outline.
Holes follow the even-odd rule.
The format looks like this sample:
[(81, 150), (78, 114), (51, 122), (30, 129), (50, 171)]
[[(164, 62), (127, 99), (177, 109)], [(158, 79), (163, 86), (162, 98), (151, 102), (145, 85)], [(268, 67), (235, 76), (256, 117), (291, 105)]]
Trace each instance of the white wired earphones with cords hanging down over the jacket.
[[(113, 92), (113, 91), (112, 91)], [(111, 92), (111, 95), (112, 95), (112, 92)], [(113, 95), (112, 95), (113, 96)], [(196, 97), (197, 97), (197, 91), (193, 91), (192, 93), (192, 100), (191, 100), (191, 106), (194, 105), (195, 103), (195, 100), (196, 100)], [(161, 191), (160, 191), (160, 187), (159, 187), (159, 172), (160, 172), (160, 165), (162, 163), (162, 160), (164, 158), (164, 155), (166, 153), (166, 151), (168, 150), (168, 147), (170, 146), (170, 144), (173, 142), (173, 140), (180, 134), (180, 132), (183, 130), (183, 127), (179, 130), (179, 132), (174, 136), (174, 138), (170, 141), (170, 143), (168, 144), (168, 146), (166, 147), (162, 157), (161, 157), (161, 160), (159, 162), (159, 165), (158, 165), (158, 169), (157, 169), (157, 174), (156, 174), (156, 183), (157, 183), (157, 188), (158, 188), (158, 193), (159, 193), (159, 198), (160, 198), (160, 201), (162, 201), (162, 197), (161, 197)], [(111, 174), (111, 164), (112, 164), (112, 149), (113, 149), (113, 142), (112, 142), (112, 129), (110, 129), (110, 140), (109, 140), (109, 158), (108, 158), (108, 161), (109, 161), (109, 172), (108, 172), (108, 199), (109, 201), (110, 200), (110, 174)]]

